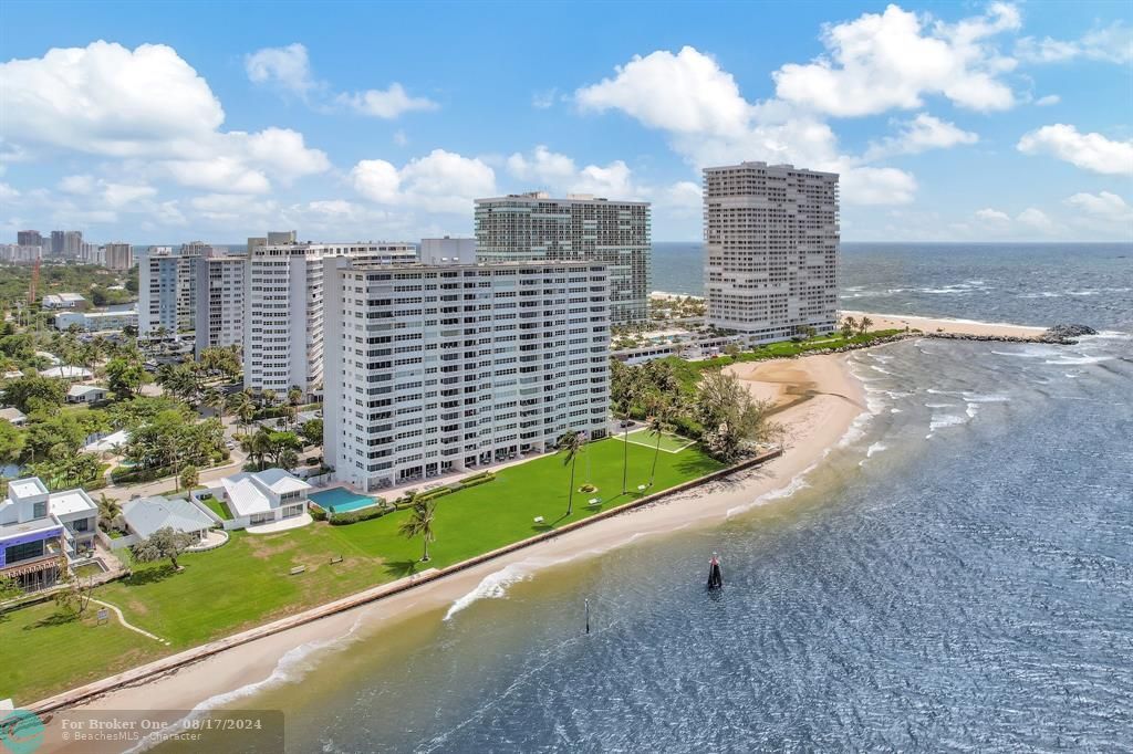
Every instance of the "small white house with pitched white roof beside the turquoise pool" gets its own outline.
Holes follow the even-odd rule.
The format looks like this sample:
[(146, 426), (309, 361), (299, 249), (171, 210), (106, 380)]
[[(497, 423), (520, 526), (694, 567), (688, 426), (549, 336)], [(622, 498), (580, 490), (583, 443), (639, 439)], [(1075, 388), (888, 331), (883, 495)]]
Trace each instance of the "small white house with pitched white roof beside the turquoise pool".
[(312, 489), (310, 485), (282, 469), (265, 469), (225, 477), (218, 487), (205, 491), (222, 500), (232, 514), (225, 529), (245, 529), (305, 515), (307, 494)]

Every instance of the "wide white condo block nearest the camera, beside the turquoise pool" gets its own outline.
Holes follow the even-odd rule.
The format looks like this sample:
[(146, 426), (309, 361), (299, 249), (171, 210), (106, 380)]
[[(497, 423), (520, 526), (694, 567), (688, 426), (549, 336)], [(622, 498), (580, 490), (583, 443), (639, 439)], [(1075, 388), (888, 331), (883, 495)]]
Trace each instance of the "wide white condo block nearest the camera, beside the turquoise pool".
[(376, 490), (600, 437), (605, 265), (326, 263), (324, 453)]

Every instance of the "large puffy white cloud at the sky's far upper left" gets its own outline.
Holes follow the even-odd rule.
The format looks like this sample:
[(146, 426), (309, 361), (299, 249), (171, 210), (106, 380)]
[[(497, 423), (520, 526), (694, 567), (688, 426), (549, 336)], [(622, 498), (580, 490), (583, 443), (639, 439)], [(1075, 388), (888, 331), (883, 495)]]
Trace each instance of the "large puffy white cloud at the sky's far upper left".
[(53, 49), (0, 65), (0, 138), (17, 148), (134, 160), (148, 174), (216, 191), (263, 192), (273, 179), (330, 168), (297, 131), (220, 130), (220, 101), (167, 45)]

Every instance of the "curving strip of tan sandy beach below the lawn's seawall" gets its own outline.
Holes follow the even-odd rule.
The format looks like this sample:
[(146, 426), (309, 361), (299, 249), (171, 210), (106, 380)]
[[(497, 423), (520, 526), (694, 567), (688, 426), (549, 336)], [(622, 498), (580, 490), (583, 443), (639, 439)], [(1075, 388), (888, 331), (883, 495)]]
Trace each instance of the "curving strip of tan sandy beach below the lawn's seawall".
[[(783, 408), (775, 420), (786, 428), (783, 456), (655, 505), (582, 528), (546, 542), (480, 564), (418, 589), (330, 616), (221, 652), (174, 672), (120, 688), (80, 705), (80, 710), (191, 710), (223, 706), (271, 678), (288, 676), (288, 653), (332, 648), (389, 623), (426, 610), (450, 607), (476, 590), (480, 581), (509, 565), (538, 569), (587, 557), (642, 535), (663, 534), (690, 525), (719, 522), (757, 505), (760, 497), (787, 486), (835, 445), (863, 411), (858, 382), (844, 355), (817, 355), (790, 361), (742, 365), (741, 377), (752, 394)], [(804, 397), (803, 397), (804, 396)], [(438, 618), (440, 619), (440, 618)], [(317, 661), (317, 652), (313, 659)], [(283, 660), (283, 662), (281, 662)], [(333, 661), (333, 660), (332, 660)], [(50, 740), (50, 737), (49, 737)], [(79, 751), (74, 747), (43, 751)]]

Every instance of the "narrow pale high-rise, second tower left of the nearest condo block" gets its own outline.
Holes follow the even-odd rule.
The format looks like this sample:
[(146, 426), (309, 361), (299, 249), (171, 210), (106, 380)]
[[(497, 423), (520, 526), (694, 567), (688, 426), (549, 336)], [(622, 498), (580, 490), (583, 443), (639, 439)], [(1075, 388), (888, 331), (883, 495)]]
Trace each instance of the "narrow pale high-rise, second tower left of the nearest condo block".
[(212, 255), (197, 259), (195, 268), (196, 354), (211, 346), (242, 349), (248, 258)]

